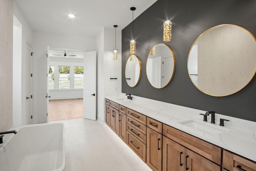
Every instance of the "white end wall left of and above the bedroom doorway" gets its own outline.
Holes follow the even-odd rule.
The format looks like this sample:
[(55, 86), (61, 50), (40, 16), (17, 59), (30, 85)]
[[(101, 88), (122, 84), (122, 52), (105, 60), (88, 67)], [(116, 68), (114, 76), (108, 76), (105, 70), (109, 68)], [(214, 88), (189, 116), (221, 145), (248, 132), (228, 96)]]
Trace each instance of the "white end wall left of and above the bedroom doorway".
[(34, 123), (47, 122), (46, 118), (46, 64), (47, 46), (94, 51), (94, 38), (34, 32), (33, 38), (33, 115)]

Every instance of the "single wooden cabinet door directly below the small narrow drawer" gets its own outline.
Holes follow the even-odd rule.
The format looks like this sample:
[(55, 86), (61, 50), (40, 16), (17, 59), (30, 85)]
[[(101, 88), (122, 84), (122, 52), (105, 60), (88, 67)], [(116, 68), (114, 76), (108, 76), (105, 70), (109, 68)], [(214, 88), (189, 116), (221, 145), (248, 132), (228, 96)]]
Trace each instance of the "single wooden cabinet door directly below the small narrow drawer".
[(162, 134), (147, 127), (146, 161), (153, 171), (162, 171)]

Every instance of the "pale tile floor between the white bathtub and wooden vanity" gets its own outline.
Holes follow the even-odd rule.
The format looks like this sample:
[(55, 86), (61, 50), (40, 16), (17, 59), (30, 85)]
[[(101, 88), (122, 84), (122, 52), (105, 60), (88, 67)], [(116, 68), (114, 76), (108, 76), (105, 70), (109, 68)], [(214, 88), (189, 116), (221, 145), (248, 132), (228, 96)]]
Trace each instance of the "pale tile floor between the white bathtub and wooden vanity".
[(64, 171), (151, 171), (108, 126), (83, 118), (53, 122), (65, 124)]

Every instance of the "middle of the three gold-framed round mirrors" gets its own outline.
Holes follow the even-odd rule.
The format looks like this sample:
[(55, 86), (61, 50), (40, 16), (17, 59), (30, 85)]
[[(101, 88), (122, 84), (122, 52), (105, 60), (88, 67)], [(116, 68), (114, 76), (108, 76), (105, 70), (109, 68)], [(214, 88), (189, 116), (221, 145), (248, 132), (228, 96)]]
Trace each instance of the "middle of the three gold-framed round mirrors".
[(165, 44), (154, 46), (147, 58), (146, 74), (148, 81), (155, 88), (166, 87), (175, 71), (175, 58), (172, 49)]

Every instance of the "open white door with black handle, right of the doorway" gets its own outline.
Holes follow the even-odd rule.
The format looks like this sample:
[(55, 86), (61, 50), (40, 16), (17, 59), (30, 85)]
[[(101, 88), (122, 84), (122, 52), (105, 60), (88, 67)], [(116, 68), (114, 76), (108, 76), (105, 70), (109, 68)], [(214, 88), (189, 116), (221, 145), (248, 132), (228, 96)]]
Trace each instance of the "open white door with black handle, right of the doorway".
[(84, 52), (84, 118), (96, 120), (96, 51)]

